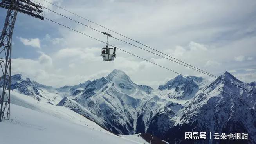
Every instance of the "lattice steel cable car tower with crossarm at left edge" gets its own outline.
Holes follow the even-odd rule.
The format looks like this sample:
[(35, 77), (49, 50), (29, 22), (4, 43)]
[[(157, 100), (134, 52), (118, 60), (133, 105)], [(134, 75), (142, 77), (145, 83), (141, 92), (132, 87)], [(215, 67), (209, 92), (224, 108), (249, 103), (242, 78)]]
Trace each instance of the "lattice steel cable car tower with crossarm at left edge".
[(0, 122), (10, 119), (11, 50), (12, 35), (17, 13), (21, 12), (43, 20), (43, 7), (30, 0), (2, 0), (0, 7), (8, 9), (0, 37)]

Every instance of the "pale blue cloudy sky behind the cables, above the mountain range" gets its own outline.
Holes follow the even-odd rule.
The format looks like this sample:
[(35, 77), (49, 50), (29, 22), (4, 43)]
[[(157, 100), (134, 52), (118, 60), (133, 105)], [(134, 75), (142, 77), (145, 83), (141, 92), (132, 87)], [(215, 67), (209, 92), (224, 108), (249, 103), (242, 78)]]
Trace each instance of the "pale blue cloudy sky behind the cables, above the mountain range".
[[(36, 1), (101, 32), (151, 51), (43, 0)], [(243, 82), (256, 81), (255, 0), (49, 1), (216, 76), (228, 71)], [(106, 41), (106, 36), (99, 32), (47, 9), (44, 11), (45, 18)], [(1, 29), (6, 12), (6, 9), (0, 9)], [(213, 80), (113, 38), (109, 39), (109, 43), (185, 76)], [(121, 50), (117, 50), (114, 61), (102, 61), (99, 55), (105, 46), (105, 43), (49, 20), (18, 13), (13, 32), (12, 74), (22, 74), (54, 87), (77, 85), (107, 76), (114, 69), (123, 70), (137, 84), (153, 88), (177, 76)]]

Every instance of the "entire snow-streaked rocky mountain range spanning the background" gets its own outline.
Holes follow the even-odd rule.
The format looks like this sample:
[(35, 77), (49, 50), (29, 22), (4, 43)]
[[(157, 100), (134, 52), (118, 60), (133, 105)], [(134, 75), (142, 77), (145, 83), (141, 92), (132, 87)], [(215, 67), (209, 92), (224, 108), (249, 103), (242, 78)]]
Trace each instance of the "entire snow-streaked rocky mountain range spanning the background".
[(242, 142), (256, 143), (256, 95), (243, 89), (256, 92), (256, 82), (243, 83), (228, 72), (212, 83), (201, 77), (177, 76), (156, 90), (133, 83), (120, 70), (61, 88), (18, 76), (12, 77), (12, 90), (69, 108), (116, 134), (147, 132), (179, 144), (189, 142), (184, 140), (185, 131), (247, 132), (250, 138)]

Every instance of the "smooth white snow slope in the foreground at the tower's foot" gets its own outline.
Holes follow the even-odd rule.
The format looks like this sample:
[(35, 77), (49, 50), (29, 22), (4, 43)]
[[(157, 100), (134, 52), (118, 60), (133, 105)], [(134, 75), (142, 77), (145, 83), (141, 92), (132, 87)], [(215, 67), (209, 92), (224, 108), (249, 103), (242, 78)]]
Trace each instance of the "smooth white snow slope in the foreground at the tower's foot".
[(3, 144), (138, 144), (65, 107), (38, 102), (16, 92), (12, 92), (11, 102), (11, 119), (0, 122)]

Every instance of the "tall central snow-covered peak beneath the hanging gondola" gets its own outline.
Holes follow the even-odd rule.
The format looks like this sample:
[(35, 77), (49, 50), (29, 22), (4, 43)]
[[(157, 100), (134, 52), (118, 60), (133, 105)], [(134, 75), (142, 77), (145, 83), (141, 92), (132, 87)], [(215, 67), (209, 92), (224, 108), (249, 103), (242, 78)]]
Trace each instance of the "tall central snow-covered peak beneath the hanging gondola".
[[(124, 72), (114, 70), (89, 83), (76, 96), (65, 97), (58, 105), (76, 110), (114, 133), (130, 135), (146, 132), (157, 116), (168, 117), (167, 126), (174, 123), (173, 115), (163, 113), (174, 113), (171, 108), (181, 105), (171, 105), (173, 102), (164, 99), (158, 103), (152, 92), (151, 87), (137, 85)], [(164, 107), (166, 104), (169, 108)]]

